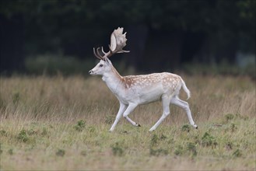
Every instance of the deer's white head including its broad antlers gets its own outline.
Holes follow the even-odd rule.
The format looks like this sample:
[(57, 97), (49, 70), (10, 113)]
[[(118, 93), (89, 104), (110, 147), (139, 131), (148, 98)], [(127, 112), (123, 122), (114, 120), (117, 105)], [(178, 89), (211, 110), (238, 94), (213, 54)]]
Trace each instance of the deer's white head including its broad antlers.
[(90, 75), (103, 75), (104, 73), (111, 70), (111, 61), (109, 60), (110, 56), (117, 53), (128, 53), (129, 51), (124, 51), (123, 47), (126, 46), (126, 32), (123, 33), (124, 28), (118, 27), (117, 30), (114, 30), (110, 37), (110, 45), (109, 45), (109, 51), (105, 52), (103, 50), (103, 47), (101, 47), (101, 53), (100, 54), (100, 47), (98, 47), (96, 50), (93, 47), (93, 54), (96, 56), (96, 58), (100, 59), (100, 62), (89, 71)]

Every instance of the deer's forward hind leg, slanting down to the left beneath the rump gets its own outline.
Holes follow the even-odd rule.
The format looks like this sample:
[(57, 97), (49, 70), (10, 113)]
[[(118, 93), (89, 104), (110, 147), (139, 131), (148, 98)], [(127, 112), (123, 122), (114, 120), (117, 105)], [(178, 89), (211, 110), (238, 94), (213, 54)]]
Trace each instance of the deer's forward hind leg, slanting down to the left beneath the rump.
[(149, 131), (156, 130), (156, 127), (158, 127), (163, 120), (170, 114), (170, 97), (168, 96), (162, 96), (162, 103), (163, 103), (163, 114), (160, 117), (160, 120), (156, 122), (156, 124), (149, 129)]

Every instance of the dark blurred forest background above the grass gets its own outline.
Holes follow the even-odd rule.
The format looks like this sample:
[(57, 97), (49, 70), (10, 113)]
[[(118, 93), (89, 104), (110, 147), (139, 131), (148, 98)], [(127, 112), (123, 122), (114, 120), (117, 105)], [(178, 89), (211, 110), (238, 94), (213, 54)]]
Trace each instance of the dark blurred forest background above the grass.
[[(254, 0), (1, 0), (1, 74), (87, 75), (118, 26), (128, 54), (121, 72), (251, 75)], [(131, 69), (132, 68), (132, 69)]]

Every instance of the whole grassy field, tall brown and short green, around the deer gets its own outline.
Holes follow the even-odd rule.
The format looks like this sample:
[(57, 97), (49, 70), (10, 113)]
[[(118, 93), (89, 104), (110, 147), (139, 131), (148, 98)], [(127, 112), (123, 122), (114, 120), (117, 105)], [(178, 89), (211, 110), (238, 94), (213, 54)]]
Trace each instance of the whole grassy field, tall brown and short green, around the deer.
[[(139, 106), (108, 132), (118, 101), (100, 77), (1, 78), (1, 170), (254, 170), (255, 80), (182, 75), (198, 130), (184, 110), (156, 131), (160, 102)], [(185, 99), (181, 92), (181, 99)]]

